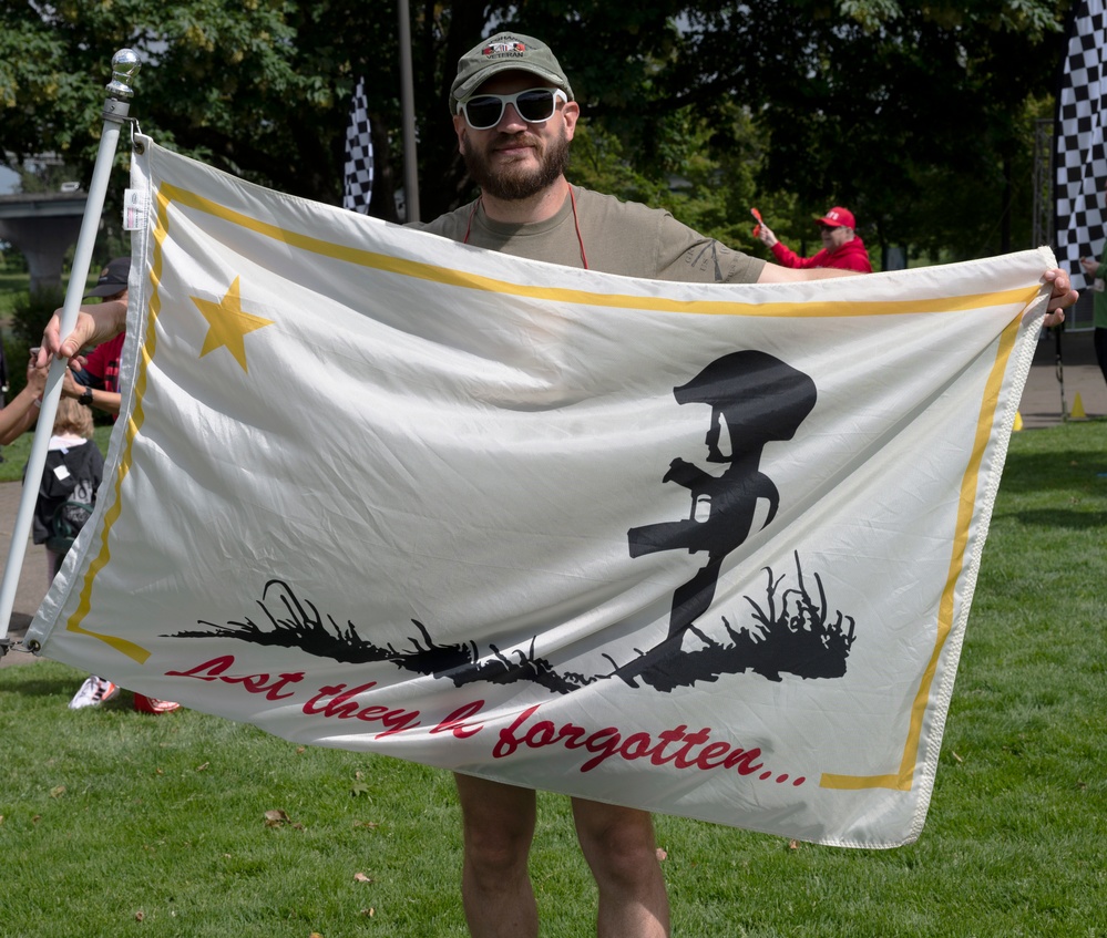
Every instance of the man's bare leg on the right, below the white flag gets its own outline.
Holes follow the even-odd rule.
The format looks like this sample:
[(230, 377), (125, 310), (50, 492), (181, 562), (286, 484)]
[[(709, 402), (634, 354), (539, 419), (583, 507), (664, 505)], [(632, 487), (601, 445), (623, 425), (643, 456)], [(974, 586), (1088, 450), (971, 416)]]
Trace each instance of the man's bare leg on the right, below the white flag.
[(644, 811), (573, 798), (576, 836), (599, 886), (599, 938), (667, 938), (669, 899)]

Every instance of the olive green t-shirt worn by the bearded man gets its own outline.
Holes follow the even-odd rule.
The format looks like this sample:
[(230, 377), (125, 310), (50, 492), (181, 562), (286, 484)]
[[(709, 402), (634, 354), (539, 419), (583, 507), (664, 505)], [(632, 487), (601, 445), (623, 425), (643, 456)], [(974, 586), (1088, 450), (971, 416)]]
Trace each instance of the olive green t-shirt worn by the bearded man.
[(545, 221), (493, 221), (478, 202), (418, 227), (514, 257), (649, 280), (754, 284), (765, 267), (763, 260), (704, 237), (663, 209), (578, 186), (572, 190), (573, 198)]

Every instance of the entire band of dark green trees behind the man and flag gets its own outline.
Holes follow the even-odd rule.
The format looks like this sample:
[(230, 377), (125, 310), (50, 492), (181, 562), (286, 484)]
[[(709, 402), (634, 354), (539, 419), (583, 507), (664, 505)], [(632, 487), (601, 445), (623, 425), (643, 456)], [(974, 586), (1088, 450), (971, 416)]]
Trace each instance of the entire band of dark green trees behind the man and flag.
[[(557, 52), (585, 120), (574, 179), (750, 247), (855, 210), (872, 245), (971, 257), (1028, 245), (1033, 118), (1065, 0), (455, 0), (411, 9), (423, 217), (469, 197), (447, 93), (494, 28)], [(0, 0), (0, 146), (91, 175), (114, 51), (143, 59), (132, 114), (163, 145), (275, 188), (341, 197), (348, 101), (367, 79), (371, 212), (402, 174), (394, 0)], [(121, 153), (121, 163), (126, 154)]]

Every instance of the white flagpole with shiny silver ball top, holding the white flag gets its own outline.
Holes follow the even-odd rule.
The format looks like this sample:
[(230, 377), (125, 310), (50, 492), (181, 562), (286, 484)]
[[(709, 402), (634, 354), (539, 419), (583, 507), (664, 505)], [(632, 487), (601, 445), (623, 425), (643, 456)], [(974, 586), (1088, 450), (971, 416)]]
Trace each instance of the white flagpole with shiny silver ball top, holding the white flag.
[[(139, 56), (130, 49), (121, 49), (112, 56), (112, 80), (105, 85), (107, 99), (104, 101), (104, 126), (100, 136), (100, 148), (92, 169), (92, 182), (89, 184), (89, 200), (84, 206), (84, 218), (81, 220), (81, 231), (76, 239), (73, 255), (73, 266), (70, 268), (69, 286), (62, 306), (61, 334), (68, 336), (76, 324), (81, 299), (84, 297), (85, 284), (89, 280), (89, 267), (92, 262), (92, 249), (96, 243), (96, 231), (100, 228), (100, 216), (104, 208), (104, 195), (107, 192), (107, 178), (115, 162), (115, 146), (119, 142), (120, 128), (130, 121), (127, 112), (130, 100), (134, 92), (130, 82), (139, 71)], [(53, 433), (54, 415), (58, 412), (58, 401), (61, 399), (62, 381), (68, 363), (54, 359), (47, 375), (47, 386), (42, 394), (42, 408), (39, 411), (38, 425), (31, 442), (31, 454), (27, 461), (23, 494), (16, 515), (16, 526), (11, 534), (11, 547), (8, 549), (8, 563), (3, 570), (3, 581), (0, 583), (0, 657), (8, 650), (8, 627), (11, 610), (16, 604), (16, 590), (19, 586), (19, 575), (23, 568), (23, 556), (27, 553), (27, 538), (31, 530), (34, 516), (34, 503), (38, 501), (39, 484), (42, 470), (47, 462), (47, 447)]]

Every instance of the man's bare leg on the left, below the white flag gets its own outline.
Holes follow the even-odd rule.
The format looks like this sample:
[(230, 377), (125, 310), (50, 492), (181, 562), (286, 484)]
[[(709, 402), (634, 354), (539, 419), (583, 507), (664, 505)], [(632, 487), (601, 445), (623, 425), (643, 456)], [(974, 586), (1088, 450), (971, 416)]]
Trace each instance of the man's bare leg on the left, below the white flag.
[(461, 898), (473, 938), (537, 938), (539, 910), (526, 859), (534, 837), (530, 788), (455, 774), (464, 865)]

